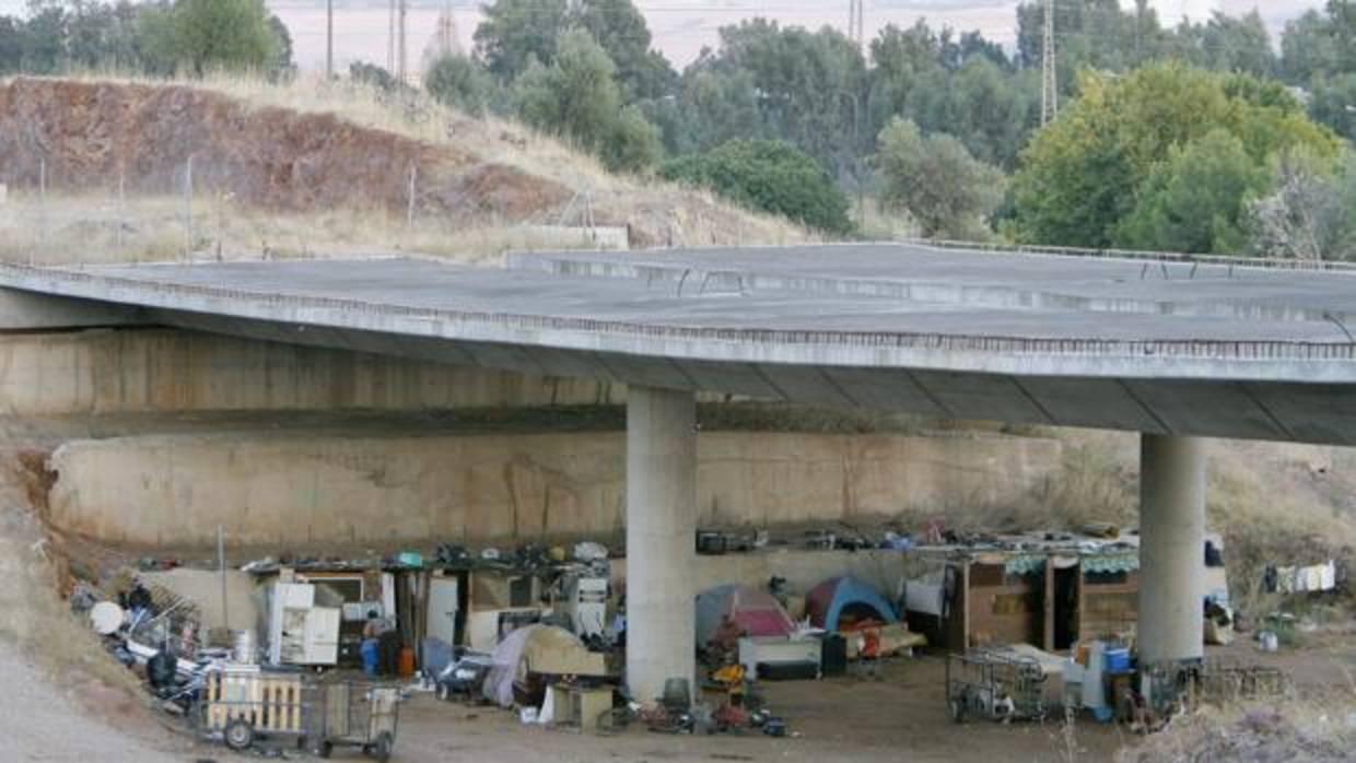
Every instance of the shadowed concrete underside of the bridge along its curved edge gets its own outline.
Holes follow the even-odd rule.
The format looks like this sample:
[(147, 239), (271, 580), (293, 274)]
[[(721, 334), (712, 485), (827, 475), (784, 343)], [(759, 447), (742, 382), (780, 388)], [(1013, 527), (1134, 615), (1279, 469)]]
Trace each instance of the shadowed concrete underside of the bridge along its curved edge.
[(264, 342), (663, 389), (708, 390), (758, 400), (899, 411), (942, 420), (1356, 445), (1356, 394), (1342, 385), (705, 362), (449, 342), (163, 309), (148, 310), (144, 318), (153, 324)]

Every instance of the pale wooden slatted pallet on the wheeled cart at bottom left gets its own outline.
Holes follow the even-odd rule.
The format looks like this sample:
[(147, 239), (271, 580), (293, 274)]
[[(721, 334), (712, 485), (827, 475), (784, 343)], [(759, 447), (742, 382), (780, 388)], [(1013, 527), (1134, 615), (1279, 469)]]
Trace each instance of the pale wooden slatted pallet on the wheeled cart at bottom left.
[(212, 672), (205, 702), (207, 730), (243, 718), (258, 733), (302, 733), (300, 675)]

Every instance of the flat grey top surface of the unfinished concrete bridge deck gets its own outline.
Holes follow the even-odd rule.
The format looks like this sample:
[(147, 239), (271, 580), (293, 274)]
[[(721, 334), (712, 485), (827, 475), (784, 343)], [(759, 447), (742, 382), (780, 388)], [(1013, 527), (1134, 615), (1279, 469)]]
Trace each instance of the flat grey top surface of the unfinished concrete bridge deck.
[[(621, 272), (618, 263), (635, 276), (598, 278)], [(400, 309), (732, 331), (1348, 344), (1340, 321), (1356, 316), (1356, 275), (1219, 266), (1192, 274), (1189, 264), (881, 247), (536, 255), (514, 266), (385, 259), (85, 272)]]

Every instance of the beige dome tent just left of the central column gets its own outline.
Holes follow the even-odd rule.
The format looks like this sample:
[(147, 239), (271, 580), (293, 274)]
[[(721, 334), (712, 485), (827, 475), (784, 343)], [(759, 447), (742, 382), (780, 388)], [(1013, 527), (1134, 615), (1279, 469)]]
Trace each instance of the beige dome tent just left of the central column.
[(500, 707), (513, 707), (514, 683), (525, 683), (529, 674), (606, 674), (602, 655), (590, 652), (578, 636), (553, 625), (529, 625), (504, 636), (490, 661), (481, 694)]

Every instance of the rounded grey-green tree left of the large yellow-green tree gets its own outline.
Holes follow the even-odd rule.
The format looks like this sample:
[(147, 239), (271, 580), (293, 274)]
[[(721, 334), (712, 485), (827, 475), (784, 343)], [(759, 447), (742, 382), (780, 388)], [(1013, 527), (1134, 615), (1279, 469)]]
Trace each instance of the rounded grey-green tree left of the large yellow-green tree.
[(907, 211), (926, 237), (980, 239), (1003, 198), (1003, 175), (956, 138), (923, 136), (895, 119), (880, 134), (876, 165), (887, 205)]

